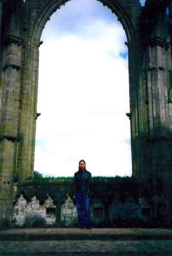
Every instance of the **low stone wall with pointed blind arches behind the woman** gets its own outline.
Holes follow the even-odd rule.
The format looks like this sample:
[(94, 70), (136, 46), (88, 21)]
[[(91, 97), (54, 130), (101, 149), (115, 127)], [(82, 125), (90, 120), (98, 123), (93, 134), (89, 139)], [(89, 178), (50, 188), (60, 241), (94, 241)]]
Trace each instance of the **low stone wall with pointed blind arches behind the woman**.
[[(42, 219), (51, 226), (77, 226), (76, 202), (72, 181), (28, 181), (15, 185), (13, 221), (19, 226)], [(91, 190), (92, 226), (122, 226), (150, 223), (155, 204), (152, 189), (133, 181), (94, 182)], [(157, 205), (156, 205), (157, 206)], [(161, 209), (163, 204), (161, 204)], [(156, 209), (157, 210), (157, 209)], [(160, 213), (165, 213), (165, 207)]]

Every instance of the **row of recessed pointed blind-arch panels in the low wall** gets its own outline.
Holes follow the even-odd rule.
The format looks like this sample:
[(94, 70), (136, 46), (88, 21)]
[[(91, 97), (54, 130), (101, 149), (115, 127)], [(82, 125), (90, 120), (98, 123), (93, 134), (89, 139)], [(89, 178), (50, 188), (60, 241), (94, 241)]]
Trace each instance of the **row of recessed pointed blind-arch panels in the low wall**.
[[(143, 198), (140, 198), (142, 202)], [(109, 205), (109, 222), (111, 227), (120, 226), (124, 223), (137, 222), (150, 223), (151, 207), (148, 200), (144, 199), (144, 205), (134, 202), (133, 197), (129, 198), (127, 202), (117, 202), (116, 199)], [(32, 225), (34, 221), (44, 219), (45, 224), (58, 227), (77, 227), (78, 217), (77, 208), (72, 198), (67, 195), (65, 202), (61, 205), (61, 222), (56, 223), (56, 206), (53, 200), (49, 197), (44, 205), (39, 204), (39, 200), (34, 196), (31, 202), (27, 203), (26, 199), (21, 195), (13, 207), (13, 222), (18, 226)], [(104, 205), (100, 199), (93, 199), (91, 203), (91, 223), (92, 226), (105, 226), (105, 211)], [(141, 224), (140, 224), (141, 225)]]

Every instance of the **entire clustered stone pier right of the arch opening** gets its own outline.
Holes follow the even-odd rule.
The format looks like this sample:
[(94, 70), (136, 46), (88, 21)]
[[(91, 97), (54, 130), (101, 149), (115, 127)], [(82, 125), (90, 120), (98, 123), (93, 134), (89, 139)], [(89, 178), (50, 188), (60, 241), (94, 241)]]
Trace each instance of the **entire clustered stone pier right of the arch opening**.
[[(147, 9), (143, 9), (145, 16), (140, 20), (140, 34), (136, 34), (133, 44), (128, 44), (128, 66), (133, 176), (155, 183), (170, 177), (172, 112), (168, 100), (171, 47), (167, 22), (159, 9), (156, 10), (158, 19), (150, 19), (149, 4), (154, 3), (150, 1)], [(150, 21), (150, 24), (143, 21)]]

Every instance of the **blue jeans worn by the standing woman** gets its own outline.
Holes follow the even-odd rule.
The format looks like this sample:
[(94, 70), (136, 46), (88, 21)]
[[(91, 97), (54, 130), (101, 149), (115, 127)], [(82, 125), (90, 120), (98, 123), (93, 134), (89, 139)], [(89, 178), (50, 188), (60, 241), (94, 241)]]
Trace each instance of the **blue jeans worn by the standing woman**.
[[(76, 206), (78, 212), (79, 226), (84, 227), (84, 216), (87, 227), (90, 227), (90, 197), (85, 197), (86, 192), (76, 192)], [(83, 211), (84, 207), (84, 211)]]

